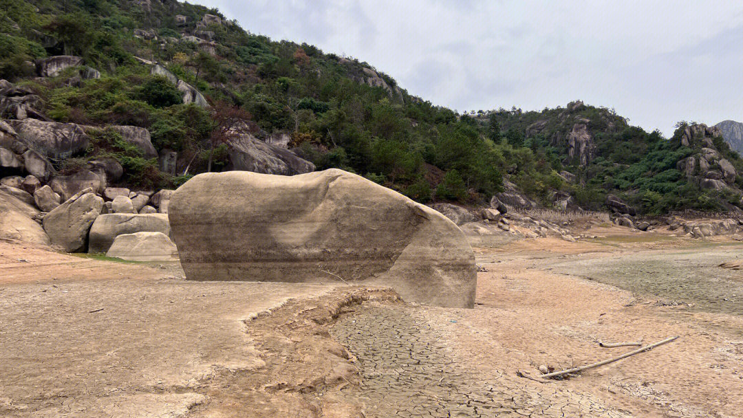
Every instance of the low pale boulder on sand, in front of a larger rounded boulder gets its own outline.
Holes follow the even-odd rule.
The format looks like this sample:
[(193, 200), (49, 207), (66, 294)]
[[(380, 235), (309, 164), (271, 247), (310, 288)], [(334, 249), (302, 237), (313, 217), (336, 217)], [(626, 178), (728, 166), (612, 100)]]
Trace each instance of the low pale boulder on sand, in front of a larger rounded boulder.
[(178, 249), (162, 232), (134, 232), (117, 236), (106, 256), (130, 261), (176, 261)]

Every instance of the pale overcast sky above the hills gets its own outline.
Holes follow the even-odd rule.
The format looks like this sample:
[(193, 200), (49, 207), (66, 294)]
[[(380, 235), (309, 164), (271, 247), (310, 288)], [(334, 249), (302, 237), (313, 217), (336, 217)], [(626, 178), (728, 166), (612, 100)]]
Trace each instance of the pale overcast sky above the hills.
[(458, 111), (606, 106), (669, 135), (743, 121), (743, 1), (198, 0)]

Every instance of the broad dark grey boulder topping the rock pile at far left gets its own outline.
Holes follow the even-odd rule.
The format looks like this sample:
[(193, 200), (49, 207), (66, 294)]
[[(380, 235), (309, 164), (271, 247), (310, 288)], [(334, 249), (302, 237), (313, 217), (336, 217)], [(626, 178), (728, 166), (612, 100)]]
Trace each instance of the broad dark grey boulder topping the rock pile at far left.
[[(25, 119), (13, 121), (18, 137), (42, 157), (64, 159), (88, 148), (90, 137), (74, 123)], [(35, 174), (34, 174), (35, 175)], [(38, 176), (37, 176), (38, 177)]]

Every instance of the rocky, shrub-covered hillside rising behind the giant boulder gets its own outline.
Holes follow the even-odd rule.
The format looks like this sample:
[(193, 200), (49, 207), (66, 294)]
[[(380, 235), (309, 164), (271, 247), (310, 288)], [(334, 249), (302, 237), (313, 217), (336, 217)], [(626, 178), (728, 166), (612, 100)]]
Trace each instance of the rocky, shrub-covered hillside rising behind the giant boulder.
[(687, 174), (679, 161), (710, 147), (609, 109), (457, 114), (366, 62), (175, 0), (16, 1), (0, 10), (0, 79), (0, 178), (32, 175), (62, 200), (71, 182), (152, 192), (199, 172), (340, 168), (423, 203), (740, 204), (741, 160), (714, 136), (711, 174)]

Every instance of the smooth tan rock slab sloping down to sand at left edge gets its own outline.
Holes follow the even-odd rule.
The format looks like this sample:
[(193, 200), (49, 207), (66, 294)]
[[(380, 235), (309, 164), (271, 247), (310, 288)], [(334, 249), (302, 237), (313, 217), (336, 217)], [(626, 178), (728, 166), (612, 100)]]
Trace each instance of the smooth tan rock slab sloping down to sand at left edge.
[(49, 245), (49, 237), (33, 216), (39, 211), (0, 189), (0, 238)]

